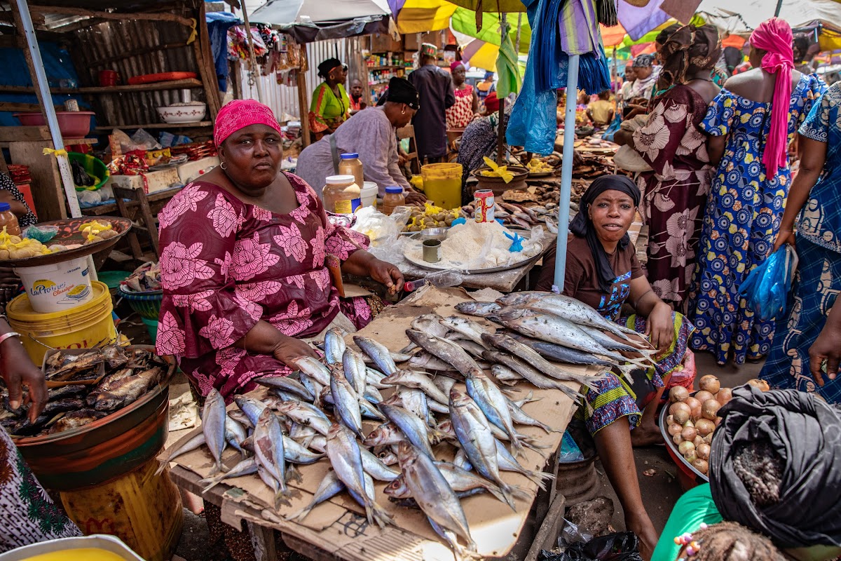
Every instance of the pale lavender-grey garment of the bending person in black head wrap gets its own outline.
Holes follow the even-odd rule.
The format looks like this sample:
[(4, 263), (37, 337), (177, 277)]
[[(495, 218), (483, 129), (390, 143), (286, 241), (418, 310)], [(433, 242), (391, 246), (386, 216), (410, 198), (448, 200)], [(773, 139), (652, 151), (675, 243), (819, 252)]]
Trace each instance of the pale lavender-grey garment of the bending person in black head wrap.
[[(380, 197), (385, 194), (387, 187), (410, 188), (397, 165), (397, 135), (389, 118), (385, 116), (384, 108), (360, 111), (342, 123), (333, 136), (340, 154), (359, 154), (365, 181), (377, 183)], [(298, 156), (295, 174), (321, 196), (325, 177), (335, 175), (329, 135), (304, 148)], [(359, 187), (362, 188), (362, 185)]]

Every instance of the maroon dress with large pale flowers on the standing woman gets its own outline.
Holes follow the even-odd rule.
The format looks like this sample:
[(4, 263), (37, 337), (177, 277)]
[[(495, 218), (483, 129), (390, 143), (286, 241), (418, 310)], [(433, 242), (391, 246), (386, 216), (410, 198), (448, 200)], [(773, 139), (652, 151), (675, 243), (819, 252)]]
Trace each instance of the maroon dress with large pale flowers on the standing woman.
[(680, 84), (654, 100), (648, 122), (633, 134), (651, 172), (637, 175), (640, 212), (648, 224), (648, 281), (661, 299), (682, 304), (695, 271), (712, 168), (698, 125), (706, 103)]

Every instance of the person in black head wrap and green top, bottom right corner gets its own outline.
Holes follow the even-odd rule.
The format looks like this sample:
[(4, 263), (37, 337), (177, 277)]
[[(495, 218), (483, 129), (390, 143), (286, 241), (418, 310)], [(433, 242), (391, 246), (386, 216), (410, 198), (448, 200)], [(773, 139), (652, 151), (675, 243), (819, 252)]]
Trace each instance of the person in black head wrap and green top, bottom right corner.
[(700, 543), (704, 532), (699, 528), (722, 520), (770, 538), (785, 558), (838, 558), (837, 410), (814, 394), (762, 392), (744, 385), (733, 390), (733, 399), (718, 415), (722, 421), (712, 439), (710, 483), (687, 491), (674, 505), (653, 561), (686, 558), (675, 537), (689, 534)]

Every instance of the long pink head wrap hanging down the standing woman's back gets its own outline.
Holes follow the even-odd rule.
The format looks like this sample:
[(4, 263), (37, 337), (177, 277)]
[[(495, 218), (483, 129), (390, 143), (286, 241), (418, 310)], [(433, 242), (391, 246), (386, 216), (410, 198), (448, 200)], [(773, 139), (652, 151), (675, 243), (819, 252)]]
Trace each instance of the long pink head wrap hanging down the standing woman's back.
[(767, 177), (774, 177), (777, 169), (785, 167), (786, 140), (788, 139), (789, 103), (791, 103), (791, 71), (794, 69), (794, 40), (791, 27), (785, 20), (768, 19), (754, 29), (750, 44), (766, 50), (762, 57), (762, 69), (776, 74), (774, 101), (771, 103), (771, 130), (765, 146), (762, 161)]

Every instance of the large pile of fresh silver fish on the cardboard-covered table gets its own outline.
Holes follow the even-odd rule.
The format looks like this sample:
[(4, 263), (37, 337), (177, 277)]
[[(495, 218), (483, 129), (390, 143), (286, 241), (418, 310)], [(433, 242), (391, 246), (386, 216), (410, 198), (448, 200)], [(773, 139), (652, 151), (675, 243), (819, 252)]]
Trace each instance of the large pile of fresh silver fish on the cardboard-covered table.
[[(237, 409), (226, 411), (221, 395), (212, 390), (204, 405), (203, 433), (168, 451), (161, 470), (173, 458), (206, 445), (215, 467), (203, 480), (205, 492), (225, 479), (257, 474), (273, 490), (278, 508), (290, 505), (288, 499), (297, 492), (288, 485), (300, 477), (295, 466), (326, 458), (332, 470), (309, 505), (283, 512), (288, 520), (303, 520), (315, 505), (346, 490), (369, 522), (381, 527), (393, 523), (375, 496), (373, 481), (384, 481), (389, 482), (385, 494), (398, 505), (420, 508), (457, 559), (473, 557), (476, 545), (463, 497), (489, 493), (516, 509), (517, 499), (531, 495), (507, 483), (500, 472), (522, 474), (540, 487), (552, 479), (525, 468), (517, 458), (526, 447), (542, 448), (518, 426), (547, 433), (553, 427), (522, 409), (532, 394), (515, 400), (519, 393), (500, 384), (527, 381), (580, 399), (563, 382), (589, 384), (600, 375), (582, 376), (562, 363), (618, 366), (625, 359), (616, 350), (639, 346), (627, 341), (627, 330), (568, 300), (524, 293), (501, 304), (458, 304), (464, 314), (484, 315), (510, 332), (489, 330), (463, 316), (421, 315), (406, 331), (410, 346), (399, 353), (354, 336), (359, 352), (346, 346), (341, 331), (328, 331), (323, 362), (299, 357), (293, 376), (257, 379), (267, 387), (264, 399), (235, 396)], [(650, 352), (640, 353), (637, 363), (650, 360)], [(377, 425), (369, 430), (363, 420)], [(436, 457), (433, 446), (441, 442), (449, 446), (436, 447)], [(232, 467), (222, 462), (228, 446), (240, 453)]]

